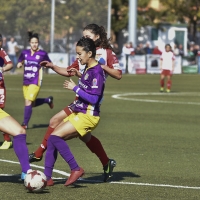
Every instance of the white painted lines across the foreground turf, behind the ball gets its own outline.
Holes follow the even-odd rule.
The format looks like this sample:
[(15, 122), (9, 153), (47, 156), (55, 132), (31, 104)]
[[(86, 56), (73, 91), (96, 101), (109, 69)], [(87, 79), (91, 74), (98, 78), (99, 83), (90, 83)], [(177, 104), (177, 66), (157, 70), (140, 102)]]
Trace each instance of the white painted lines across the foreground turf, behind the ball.
[[(3, 160), (0, 159), (0, 162), (7, 162), (7, 163), (12, 163), (12, 164), (20, 164), (19, 162), (11, 161), (11, 160)], [(44, 169), (42, 166), (30, 164), (32, 167), (39, 168), (39, 169)], [(54, 169), (53, 172), (64, 175), (64, 176), (69, 176), (69, 173), (66, 173), (61, 170)], [(18, 176), (18, 175), (13, 175), (13, 174), (0, 174), (0, 176)], [(64, 178), (53, 178), (53, 179), (65, 179)], [(93, 183), (100, 183), (102, 181), (99, 180), (86, 180), (84, 178), (79, 178), (79, 180), (84, 181), (84, 182), (93, 182)], [(180, 189), (195, 189), (195, 190), (200, 190), (200, 187), (191, 187), (191, 186), (182, 186), (182, 185), (167, 185), (167, 184), (151, 184), (151, 183), (136, 183), (136, 182), (116, 182), (116, 181), (111, 181), (109, 182), (110, 184), (123, 184), (123, 185), (138, 185), (138, 186), (151, 186), (151, 187), (166, 187), (166, 188), (180, 188)]]

